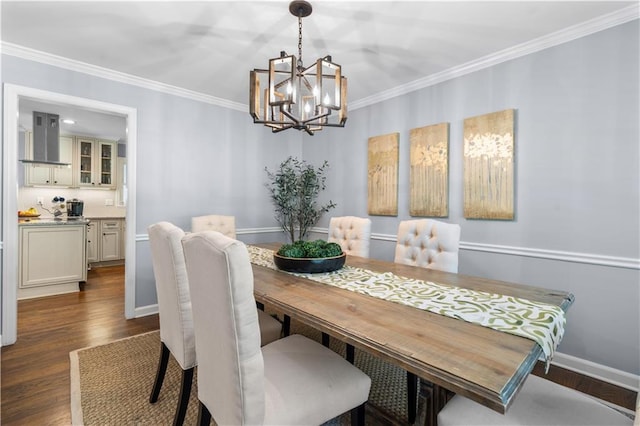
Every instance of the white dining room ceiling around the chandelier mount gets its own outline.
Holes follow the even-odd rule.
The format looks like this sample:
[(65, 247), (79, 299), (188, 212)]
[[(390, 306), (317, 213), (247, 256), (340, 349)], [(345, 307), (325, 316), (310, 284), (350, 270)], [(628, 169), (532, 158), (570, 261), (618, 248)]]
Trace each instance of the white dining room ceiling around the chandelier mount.
[[(330, 54), (366, 99), (531, 43), (637, 1), (312, 1), (303, 58)], [(297, 56), (288, 1), (7, 1), (11, 43), (248, 103), (249, 70)], [(636, 12), (637, 13), (637, 12)]]

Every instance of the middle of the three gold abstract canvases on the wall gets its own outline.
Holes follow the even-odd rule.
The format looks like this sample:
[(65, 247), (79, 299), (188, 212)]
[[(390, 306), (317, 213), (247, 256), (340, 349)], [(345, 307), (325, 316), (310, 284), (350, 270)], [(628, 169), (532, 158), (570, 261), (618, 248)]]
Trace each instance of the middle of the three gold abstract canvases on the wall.
[(449, 123), (409, 132), (409, 214), (449, 215)]

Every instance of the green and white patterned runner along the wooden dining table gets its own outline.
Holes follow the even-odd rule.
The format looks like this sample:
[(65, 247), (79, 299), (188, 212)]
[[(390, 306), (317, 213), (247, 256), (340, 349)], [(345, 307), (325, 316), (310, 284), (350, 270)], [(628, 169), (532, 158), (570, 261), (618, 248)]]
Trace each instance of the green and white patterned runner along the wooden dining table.
[[(255, 246), (247, 246), (247, 249), (251, 263), (278, 269), (273, 263), (272, 250)], [(288, 273), (531, 339), (542, 348), (547, 369), (564, 335), (564, 311), (546, 303), (348, 265), (320, 274)]]

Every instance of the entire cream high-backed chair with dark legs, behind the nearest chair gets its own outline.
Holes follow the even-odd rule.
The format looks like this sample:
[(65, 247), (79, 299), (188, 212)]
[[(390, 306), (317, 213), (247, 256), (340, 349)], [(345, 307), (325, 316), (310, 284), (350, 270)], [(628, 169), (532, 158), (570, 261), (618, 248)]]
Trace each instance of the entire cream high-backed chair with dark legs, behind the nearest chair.
[[(196, 366), (191, 297), (181, 243), (185, 234), (169, 222), (153, 224), (148, 232), (158, 296), (161, 342), (160, 360), (149, 402), (158, 401), (171, 353), (182, 369), (180, 397), (174, 417), (174, 424), (180, 425), (187, 412), (193, 369)], [(262, 311), (258, 315), (263, 343), (280, 338), (280, 322)]]

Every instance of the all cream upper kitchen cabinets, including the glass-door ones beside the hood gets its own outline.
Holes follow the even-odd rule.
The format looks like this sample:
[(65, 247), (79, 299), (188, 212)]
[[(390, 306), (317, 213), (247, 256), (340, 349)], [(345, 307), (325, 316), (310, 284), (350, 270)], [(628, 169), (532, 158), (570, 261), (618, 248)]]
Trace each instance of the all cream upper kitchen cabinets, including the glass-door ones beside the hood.
[[(25, 133), (26, 158), (32, 158), (32, 134)], [(81, 136), (60, 137), (60, 161), (71, 167), (25, 164), (26, 186), (116, 189), (116, 143)]]

